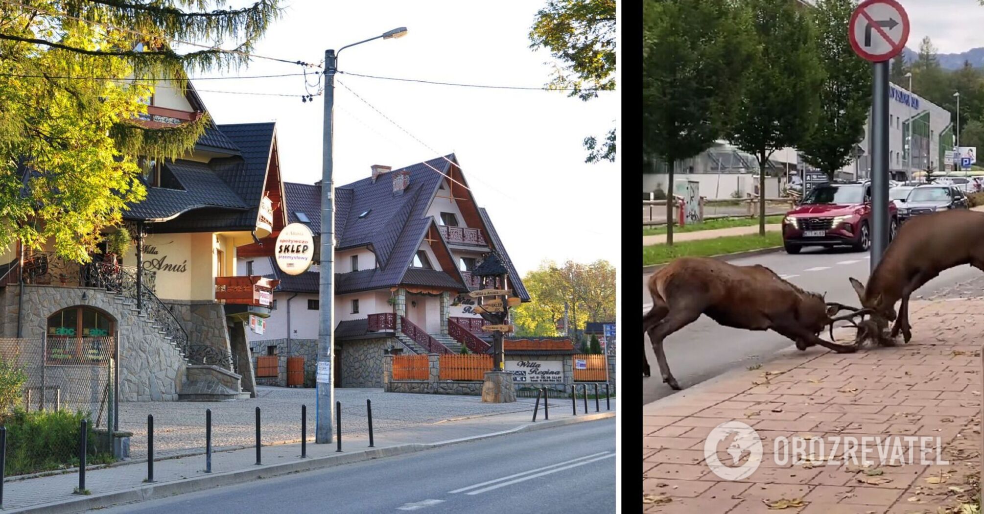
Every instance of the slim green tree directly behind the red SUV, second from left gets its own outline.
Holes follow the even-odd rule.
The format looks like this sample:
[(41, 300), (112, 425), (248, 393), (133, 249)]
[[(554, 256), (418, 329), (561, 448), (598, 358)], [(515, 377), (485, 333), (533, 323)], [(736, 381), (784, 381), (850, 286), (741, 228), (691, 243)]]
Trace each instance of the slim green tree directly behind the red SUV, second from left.
[[(817, 123), (824, 79), (809, 13), (788, 0), (747, 0), (762, 49), (748, 73), (728, 138), (759, 161), (765, 198), (772, 153), (798, 147)], [(759, 202), (759, 234), (766, 235), (766, 203)]]

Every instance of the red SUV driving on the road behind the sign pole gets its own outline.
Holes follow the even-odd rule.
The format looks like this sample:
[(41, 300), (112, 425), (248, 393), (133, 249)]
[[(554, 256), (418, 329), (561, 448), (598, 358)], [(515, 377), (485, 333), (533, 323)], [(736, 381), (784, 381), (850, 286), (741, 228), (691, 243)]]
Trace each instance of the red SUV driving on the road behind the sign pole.
[[(898, 228), (894, 202), (889, 202), (890, 240)], [(830, 182), (815, 186), (782, 220), (787, 253), (804, 246), (871, 247), (871, 182)]]

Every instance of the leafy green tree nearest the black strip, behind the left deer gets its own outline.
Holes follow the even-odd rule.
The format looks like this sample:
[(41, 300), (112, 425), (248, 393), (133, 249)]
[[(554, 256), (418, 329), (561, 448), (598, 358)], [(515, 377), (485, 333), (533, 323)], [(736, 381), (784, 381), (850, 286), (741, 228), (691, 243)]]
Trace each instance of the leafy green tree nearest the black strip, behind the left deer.
[[(643, 151), (673, 166), (707, 150), (727, 129), (754, 60), (751, 12), (735, 1), (643, 4)], [(666, 205), (673, 244), (673, 206)]]

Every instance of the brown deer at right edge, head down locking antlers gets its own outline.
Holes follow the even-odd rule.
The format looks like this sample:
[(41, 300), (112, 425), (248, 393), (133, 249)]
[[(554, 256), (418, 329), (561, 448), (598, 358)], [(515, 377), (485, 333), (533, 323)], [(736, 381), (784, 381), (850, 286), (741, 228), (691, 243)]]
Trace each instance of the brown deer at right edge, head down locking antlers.
[[(902, 225), (868, 286), (849, 279), (872, 319), (858, 326), (858, 341), (873, 339), (891, 345), (901, 331), (906, 343), (912, 339), (909, 325), (909, 296), (944, 270), (969, 264), (984, 271), (984, 213), (966, 210), (943, 211), (915, 217)], [(895, 302), (902, 302), (895, 314)], [(884, 337), (890, 321), (892, 334)]]

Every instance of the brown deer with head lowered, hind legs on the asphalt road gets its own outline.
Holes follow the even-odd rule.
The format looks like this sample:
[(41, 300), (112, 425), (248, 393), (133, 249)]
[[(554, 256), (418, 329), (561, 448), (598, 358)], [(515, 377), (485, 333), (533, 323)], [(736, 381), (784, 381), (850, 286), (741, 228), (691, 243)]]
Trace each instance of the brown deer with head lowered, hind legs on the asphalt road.
[[(850, 323), (862, 309), (828, 302), (824, 295), (800, 289), (782, 280), (769, 268), (735, 266), (705, 257), (678, 258), (649, 278), (652, 308), (643, 316), (643, 331), (649, 336), (663, 382), (680, 390), (663, 353), (667, 336), (693, 323), (701, 316), (725, 327), (772, 330), (796, 343), (796, 348), (820, 345), (837, 353), (851, 353), (857, 345), (838, 345), (821, 339), (820, 333), (833, 323)], [(852, 312), (836, 316), (841, 310)], [(859, 330), (860, 332), (860, 330)], [(649, 363), (643, 353), (643, 375), (649, 376)]]

